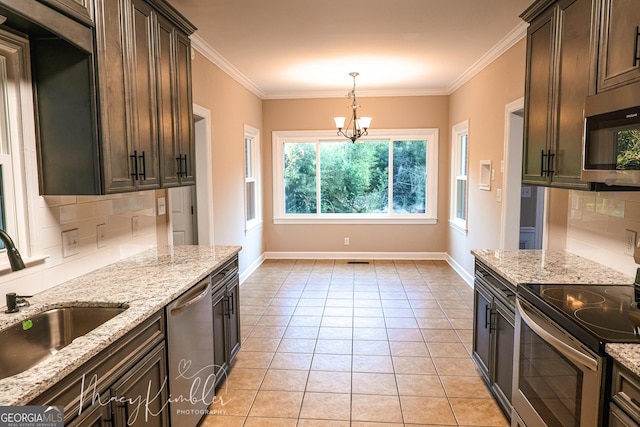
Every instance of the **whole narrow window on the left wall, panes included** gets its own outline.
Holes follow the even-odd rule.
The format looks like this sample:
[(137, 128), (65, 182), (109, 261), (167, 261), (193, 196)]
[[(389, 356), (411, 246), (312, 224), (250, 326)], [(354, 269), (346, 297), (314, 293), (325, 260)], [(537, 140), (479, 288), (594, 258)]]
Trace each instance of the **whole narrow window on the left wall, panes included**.
[(260, 199), (260, 131), (244, 127), (245, 230), (262, 223)]

